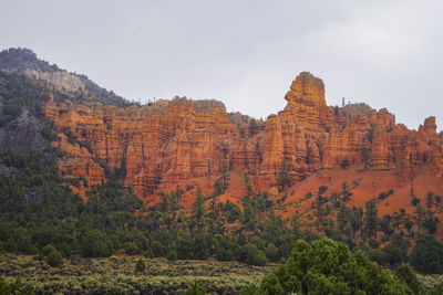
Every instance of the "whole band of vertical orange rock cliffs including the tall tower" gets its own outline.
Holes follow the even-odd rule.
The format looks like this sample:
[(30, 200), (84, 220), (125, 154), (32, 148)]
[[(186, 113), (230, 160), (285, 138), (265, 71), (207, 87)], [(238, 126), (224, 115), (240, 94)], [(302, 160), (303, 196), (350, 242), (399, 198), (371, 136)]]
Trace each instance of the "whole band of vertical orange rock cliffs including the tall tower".
[[(387, 109), (329, 107), (323, 82), (307, 72), (285, 98), (286, 108), (266, 123), (227, 114), (219, 102), (186, 98), (126, 108), (50, 101), (45, 115), (76, 137), (78, 144), (66, 138), (54, 144), (68, 154), (60, 160), (66, 175), (94, 186), (105, 181), (99, 165), (105, 162), (111, 171), (125, 170), (125, 183), (142, 198), (181, 181), (216, 177), (223, 164), (265, 188), (276, 185), (284, 159), (293, 183), (321, 168), (363, 169), (363, 162), (368, 169), (396, 169), (403, 181), (423, 165), (442, 175), (434, 117), (414, 131), (395, 124)], [(90, 149), (80, 148), (86, 143)]]

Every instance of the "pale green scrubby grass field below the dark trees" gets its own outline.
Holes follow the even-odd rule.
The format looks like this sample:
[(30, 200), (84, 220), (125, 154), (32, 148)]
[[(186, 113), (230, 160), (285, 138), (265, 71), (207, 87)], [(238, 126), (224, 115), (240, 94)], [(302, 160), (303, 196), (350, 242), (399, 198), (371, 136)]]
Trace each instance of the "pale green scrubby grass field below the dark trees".
[[(138, 259), (146, 263), (143, 273), (135, 272)], [(37, 256), (0, 256), (0, 275), (8, 281), (20, 277), (35, 294), (183, 294), (195, 281), (208, 293), (238, 294), (245, 284), (258, 283), (271, 268), (236, 262), (168, 262), (134, 256), (72, 256), (63, 266), (51, 267)]]

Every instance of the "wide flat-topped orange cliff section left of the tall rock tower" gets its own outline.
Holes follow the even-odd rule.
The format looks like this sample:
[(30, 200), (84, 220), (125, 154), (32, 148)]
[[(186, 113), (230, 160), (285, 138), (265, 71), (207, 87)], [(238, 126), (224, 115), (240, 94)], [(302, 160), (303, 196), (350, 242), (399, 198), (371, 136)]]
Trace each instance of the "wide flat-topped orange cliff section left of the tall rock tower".
[(61, 162), (61, 169), (96, 183), (103, 171), (90, 159), (105, 162), (112, 171), (125, 164), (125, 183), (146, 197), (157, 188), (175, 187), (181, 180), (216, 176), (223, 164), (241, 170), (259, 167), (262, 136), (241, 138), (223, 104), (179, 98), (167, 102), (166, 108), (165, 113), (153, 113), (162, 108), (157, 104), (73, 107), (51, 101), (47, 116), (60, 129), (71, 130), (79, 141), (90, 143), (92, 149), (90, 152), (62, 140), (60, 148), (69, 151), (71, 160)]

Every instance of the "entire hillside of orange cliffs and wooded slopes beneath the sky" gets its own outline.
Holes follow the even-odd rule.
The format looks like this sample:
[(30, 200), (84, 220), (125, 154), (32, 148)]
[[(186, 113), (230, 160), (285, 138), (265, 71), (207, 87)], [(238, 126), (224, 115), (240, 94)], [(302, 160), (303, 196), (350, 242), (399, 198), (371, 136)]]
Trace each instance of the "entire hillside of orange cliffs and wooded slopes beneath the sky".
[(393, 267), (426, 253), (421, 243), (443, 250), (435, 118), (410, 130), (384, 108), (328, 106), (324, 93), (302, 72), (266, 120), (209, 99), (138, 105), (3, 51), (0, 252), (265, 265), (326, 235)]

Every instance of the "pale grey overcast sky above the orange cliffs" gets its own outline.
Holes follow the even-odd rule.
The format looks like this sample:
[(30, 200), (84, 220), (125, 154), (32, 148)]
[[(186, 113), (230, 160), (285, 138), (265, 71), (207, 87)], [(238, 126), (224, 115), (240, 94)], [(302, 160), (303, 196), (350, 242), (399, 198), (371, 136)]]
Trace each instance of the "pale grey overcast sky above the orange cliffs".
[(216, 98), (266, 118), (301, 71), (328, 105), (388, 107), (443, 129), (440, 0), (1, 0), (0, 49), (24, 46), (128, 98)]

